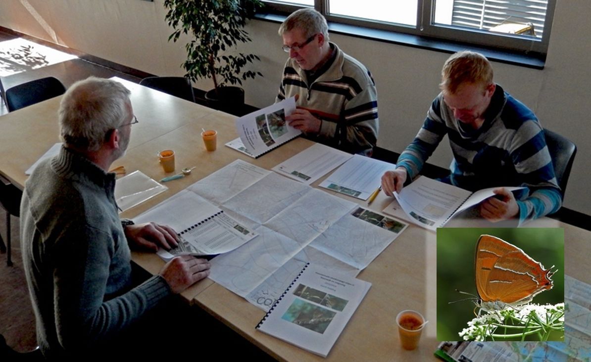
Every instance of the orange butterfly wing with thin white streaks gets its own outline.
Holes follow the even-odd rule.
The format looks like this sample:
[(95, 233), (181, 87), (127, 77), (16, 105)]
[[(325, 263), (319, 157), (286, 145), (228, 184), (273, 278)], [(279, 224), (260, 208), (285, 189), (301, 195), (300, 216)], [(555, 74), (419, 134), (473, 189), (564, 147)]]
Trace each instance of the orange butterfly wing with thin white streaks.
[(476, 289), (482, 301), (519, 305), (551, 289), (551, 272), (502, 239), (482, 235), (476, 243)]

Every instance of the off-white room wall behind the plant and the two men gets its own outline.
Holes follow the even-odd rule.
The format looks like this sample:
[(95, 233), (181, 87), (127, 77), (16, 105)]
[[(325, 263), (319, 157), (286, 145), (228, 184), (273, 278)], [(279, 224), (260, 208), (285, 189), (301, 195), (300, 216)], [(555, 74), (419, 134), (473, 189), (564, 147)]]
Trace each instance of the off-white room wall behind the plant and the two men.
[[(0, 25), (53, 41), (129, 67), (158, 75), (182, 75), (184, 44), (167, 41), (163, 0), (2, 0)], [(494, 63), (495, 80), (535, 111), (544, 127), (579, 147), (564, 206), (591, 215), (591, 135), (586, 98), (591, 96), (591, 2), (557, 1), (544, 70)], [(261, 57), (255, 65), (264, 78), (245, 83), (246, 102), (258, 107), (274, 101), (287, 54), (281, 50), (278, 25), (251, 21), (255, 42), (241, 51)], [(423, 123), (438, 93), (441, 65), (449, 56), (436, 51), (333, 34), (331, 39), (371, 70), (378, 87), (378, 145), (401, 152)], [(197, 87), (209, 90), (210, 81)], [(446, 141), (444, 141), (446, 142)], [(447, 167), (449, 147), (442, 145), (430, 162)]]

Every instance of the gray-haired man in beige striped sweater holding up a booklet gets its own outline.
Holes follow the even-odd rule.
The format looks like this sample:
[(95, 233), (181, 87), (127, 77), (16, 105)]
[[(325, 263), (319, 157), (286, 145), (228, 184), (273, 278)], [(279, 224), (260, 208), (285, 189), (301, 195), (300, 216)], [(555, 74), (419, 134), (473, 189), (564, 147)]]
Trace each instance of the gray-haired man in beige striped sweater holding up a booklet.
[(291, 126), (315, 141), (370, 156), (378, 139), (378, 98), (361, 62), (329, 42), (326, 19), (300, 9), (281, 24), (283, 50), (290, 54), (276, 101), (296, 96)]

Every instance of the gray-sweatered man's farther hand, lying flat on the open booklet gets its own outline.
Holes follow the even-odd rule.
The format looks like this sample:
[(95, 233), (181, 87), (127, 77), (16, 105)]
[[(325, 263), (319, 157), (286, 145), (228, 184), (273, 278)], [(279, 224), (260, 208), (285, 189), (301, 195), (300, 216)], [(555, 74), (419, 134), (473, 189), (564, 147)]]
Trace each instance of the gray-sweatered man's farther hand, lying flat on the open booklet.
[(157, 251), (158, 246), (166, 250), (178, 246), (177, 233), (173, 228), (154, 222), (128, 225), (125, 227), (125, 236), (134, 245), (153, 251)]

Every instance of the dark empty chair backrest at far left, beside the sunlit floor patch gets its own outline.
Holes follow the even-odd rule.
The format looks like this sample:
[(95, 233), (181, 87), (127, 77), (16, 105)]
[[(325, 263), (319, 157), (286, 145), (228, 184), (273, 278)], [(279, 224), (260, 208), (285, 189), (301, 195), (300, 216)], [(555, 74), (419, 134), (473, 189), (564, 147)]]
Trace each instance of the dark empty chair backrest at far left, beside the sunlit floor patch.
[(61, 96), (66, 87), (57, 78), (47, 77), (16, 85), (6, 91), (8, 111), (12, 112), (49, 98)]

